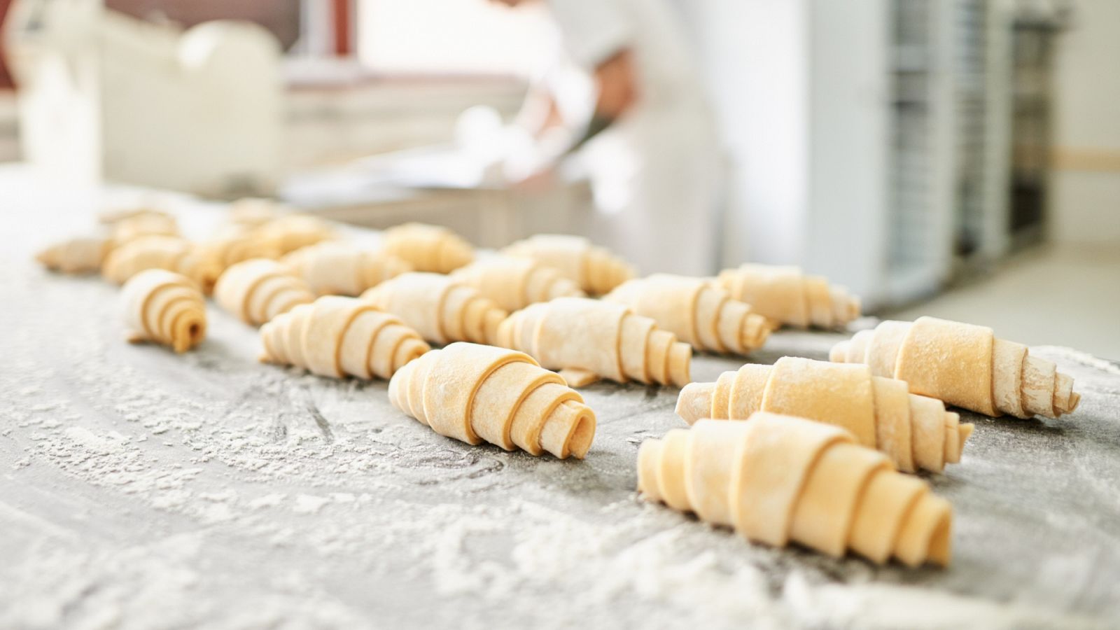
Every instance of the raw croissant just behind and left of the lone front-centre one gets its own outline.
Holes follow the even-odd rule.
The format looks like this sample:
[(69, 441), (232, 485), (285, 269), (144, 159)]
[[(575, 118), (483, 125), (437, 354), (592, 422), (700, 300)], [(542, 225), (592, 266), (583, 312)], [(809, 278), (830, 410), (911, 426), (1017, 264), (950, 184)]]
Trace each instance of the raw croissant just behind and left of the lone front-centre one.
[(261, 326), (262, 361), (320, 377), (388, 379), (428, 351), (399, 318), (354, 297), (328, 295), (300, 304)]

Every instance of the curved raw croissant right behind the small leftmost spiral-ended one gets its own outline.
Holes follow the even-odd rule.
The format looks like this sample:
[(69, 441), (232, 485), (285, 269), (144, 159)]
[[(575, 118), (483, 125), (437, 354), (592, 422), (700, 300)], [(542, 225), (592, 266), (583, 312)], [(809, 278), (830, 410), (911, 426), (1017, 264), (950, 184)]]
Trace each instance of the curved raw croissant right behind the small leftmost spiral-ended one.
[(123, 284), (144, 269), (167, 269), (197, 282), (203, 293), (209, 294), (221, 272), (203, 259), (194, 245), (178, 237), (139, 237), (114, 248), (102, 265), (105, 279)]

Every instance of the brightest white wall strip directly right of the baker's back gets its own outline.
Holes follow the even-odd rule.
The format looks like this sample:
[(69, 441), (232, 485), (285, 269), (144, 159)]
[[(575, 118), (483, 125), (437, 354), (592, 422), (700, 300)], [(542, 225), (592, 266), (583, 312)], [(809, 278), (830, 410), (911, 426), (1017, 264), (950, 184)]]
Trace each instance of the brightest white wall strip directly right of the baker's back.
[(806, 0), (682, 2), (729, 161), (724, 265), (797, 262), (808, 191)]

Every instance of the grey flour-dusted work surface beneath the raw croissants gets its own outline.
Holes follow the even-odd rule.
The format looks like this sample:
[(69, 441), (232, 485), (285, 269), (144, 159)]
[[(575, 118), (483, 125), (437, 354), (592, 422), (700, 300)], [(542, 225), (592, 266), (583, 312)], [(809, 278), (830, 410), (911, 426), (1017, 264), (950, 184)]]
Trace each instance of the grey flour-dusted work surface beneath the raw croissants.
[[(930, 476), (948, 569), (750, 545), (638, 499), (676, 391), (585, 390), (585, 461), (469, 446), (384, 382), (256, 362), (209, 308), (175, 355), (124, 343), (118, 289), (48, 274), (76, 195), (0, 177), (0, 628), (1108, 627), (1120, 623), (1120, 369), (1035, 349), (1083, 396), (1061, 420), (977, 424)], [(1055, 322), (1054, 325), (1064, 325)], [(827, 356), (778, 333), (753, 360)], [(697, 356), (713, 379), (736, 360)]]

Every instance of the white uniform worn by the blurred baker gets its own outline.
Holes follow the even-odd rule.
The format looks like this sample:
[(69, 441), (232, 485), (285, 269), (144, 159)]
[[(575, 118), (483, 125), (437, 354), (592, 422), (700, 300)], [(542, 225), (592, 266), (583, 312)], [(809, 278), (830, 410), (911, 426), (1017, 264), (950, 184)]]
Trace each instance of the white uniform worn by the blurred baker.
[(664, 0), (550, 6), (567, 54), (585, 71), (623, 49), (637, 65), (636, 106), (581, 151), (597, 209), (585, 231), (643, 274), (711, 274), (721, 160), (679, 17)]

